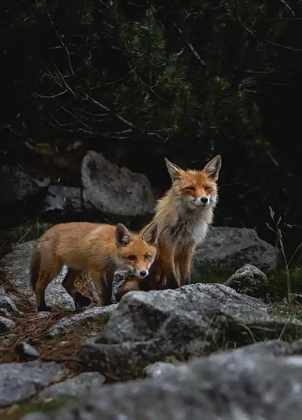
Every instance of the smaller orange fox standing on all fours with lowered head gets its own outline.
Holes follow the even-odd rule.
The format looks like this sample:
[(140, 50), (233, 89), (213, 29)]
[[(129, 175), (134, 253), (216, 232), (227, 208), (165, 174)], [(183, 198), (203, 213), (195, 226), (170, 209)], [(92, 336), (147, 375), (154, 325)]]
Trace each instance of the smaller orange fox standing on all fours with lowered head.
[(119, 223), (62, 223), (48, 229), (39, 239), (31, 261), (31, 283), (39, 311), (51, 311), (45, 302), (45, 289), (57, 277), (63, 265), (68, 267), (63, 287), (75, 305), (91, 301), (76, 290), (75, 281), (90, 271), (101, 305), (111, 303), (113, 276), (130, 271), (135, 278), (146, 277), (156, 256), (157, 223), (143, 232), (131, 233)]

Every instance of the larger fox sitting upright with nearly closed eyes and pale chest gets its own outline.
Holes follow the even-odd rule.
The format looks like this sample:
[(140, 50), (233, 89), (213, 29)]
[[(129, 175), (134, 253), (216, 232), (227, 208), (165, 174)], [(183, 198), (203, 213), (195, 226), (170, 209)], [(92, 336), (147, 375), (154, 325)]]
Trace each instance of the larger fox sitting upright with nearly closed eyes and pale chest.
[(186, 171), (165, 160), (172, 185), (157, 201), (151, 221), (159, 226), (156, 260), (148, 279), (139, 282), (130, 277), (118, 288), (118, 299), (130, 289), (177, 288), (188, 284), (194, 249), (204, 241), (212, 223), (218, 201), (221, 156), (215, 156), (202, 171)]

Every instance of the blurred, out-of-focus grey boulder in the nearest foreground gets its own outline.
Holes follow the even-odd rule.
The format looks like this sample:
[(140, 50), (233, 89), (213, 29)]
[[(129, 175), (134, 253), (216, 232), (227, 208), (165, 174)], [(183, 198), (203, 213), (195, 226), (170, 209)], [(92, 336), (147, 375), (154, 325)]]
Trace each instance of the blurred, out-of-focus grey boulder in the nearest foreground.
[(300, 420), (301, 388), (301, 356), (221, 353), (22, 420)]

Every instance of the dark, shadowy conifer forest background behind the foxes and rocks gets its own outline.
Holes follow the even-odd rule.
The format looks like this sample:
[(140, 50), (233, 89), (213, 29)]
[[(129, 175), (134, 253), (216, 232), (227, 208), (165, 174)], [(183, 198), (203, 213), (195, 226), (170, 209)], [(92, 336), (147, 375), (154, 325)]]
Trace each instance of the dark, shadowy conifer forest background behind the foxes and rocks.
[(215, 224), (274, 243), (271, 207), (299, 246), (301, 1), (2, 0), (0, 92), (1, 164), (79, 186), (93, 149), (164, 191), (220, 153)]

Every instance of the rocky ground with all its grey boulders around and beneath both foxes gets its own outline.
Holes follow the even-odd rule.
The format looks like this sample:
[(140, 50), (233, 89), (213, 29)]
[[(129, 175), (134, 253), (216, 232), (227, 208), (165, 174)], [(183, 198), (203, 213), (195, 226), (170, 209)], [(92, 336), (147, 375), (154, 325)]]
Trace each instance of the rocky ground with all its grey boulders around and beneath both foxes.
[[(85, 206), (135, 223), (148, 218), (156, 195), (148, 180), (87, 156)], [(19, 190), (16, 180), (14, 190), (0, 185), (12, 202), (42, 190), (41, 211), (64, 210), (69, 193), (75, 214), (82, 206), (78, 190), (6, 171), (23, 180)], [(119, 206), (113, 178), (136, 186)], [(301, 303), (297, 295), (292, 305), (272, 302), (265, 273), (278, 250), (253, 229), (212, 227), (194, 255), (192, 284), (177, 290), (130, 292), (115, 304), (117, 276), (113, 304), (99, 307), (83, 277), (77, 286), (92, 304), (79, 313), (61, 286), (65, 269), (46, 291), (53, 312), (36, 313), (35, 240), (24, 240), (0, 261), (1, 420), (301, 419), (302, 321), (293, 316)]]

